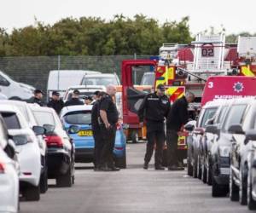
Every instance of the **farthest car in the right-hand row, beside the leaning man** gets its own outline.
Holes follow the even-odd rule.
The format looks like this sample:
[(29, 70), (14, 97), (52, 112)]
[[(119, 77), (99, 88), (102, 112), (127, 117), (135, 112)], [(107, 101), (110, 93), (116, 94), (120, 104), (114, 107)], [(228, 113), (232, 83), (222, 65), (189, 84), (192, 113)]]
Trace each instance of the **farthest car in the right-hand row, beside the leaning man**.
[(213, 118), (219, 105), (219, 101), (208, 102), (207, 105), (202, 107), (196, 125), (185, 125), (185, 130), (190, 132), (189, 136), (187, 137), (187, 167), (189, 176), (201, 178), (201, 143), (205, 133), (205, 128), (207, 126), (207, 121)]

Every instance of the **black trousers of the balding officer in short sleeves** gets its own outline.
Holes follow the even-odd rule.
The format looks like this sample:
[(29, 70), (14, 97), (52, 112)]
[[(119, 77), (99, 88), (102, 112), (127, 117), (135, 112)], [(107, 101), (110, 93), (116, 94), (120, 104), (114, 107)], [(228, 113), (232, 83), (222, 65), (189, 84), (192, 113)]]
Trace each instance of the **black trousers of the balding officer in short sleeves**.
[(116, 126), (113, 124), (107, 130), (105, 125), (101, 125), (102, 133), (102, 158), (101, 165), (108, 165), (108, 167), (113, 167), (113, 147), (116, 134)]

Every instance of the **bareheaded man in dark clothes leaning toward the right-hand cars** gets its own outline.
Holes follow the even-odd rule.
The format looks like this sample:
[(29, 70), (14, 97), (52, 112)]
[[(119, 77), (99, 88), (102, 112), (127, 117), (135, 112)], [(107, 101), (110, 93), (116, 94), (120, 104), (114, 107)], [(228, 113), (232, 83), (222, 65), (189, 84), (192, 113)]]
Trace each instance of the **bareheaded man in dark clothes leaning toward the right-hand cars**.
[(178, 132), (183, 130), (183, 125), (189, 120), (188, 106), (194, 99), (195, 95), (191, 92), (187, 92), (185, 96), (177, 99), (177, 101), (173, 103), (168, 114), (166, 121), (168, 170), (184, 169), (178, 166), (177, 160)]

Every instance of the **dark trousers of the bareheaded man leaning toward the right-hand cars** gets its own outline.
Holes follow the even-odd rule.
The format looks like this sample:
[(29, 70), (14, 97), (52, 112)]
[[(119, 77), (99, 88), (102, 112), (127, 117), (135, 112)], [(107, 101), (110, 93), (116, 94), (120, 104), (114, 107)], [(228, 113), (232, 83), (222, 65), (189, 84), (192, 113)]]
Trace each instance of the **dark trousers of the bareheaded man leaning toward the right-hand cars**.
[(177, 165), (177, 140), (176, 130), (166, 131), (168, 166)]

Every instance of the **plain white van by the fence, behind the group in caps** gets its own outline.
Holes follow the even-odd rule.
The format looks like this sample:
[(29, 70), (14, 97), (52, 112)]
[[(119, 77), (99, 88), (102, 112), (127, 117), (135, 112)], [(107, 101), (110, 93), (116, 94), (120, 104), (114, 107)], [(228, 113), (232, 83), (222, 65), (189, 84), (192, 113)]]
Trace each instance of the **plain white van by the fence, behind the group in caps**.
[(49, 72), (47, 83), (47, 97), (53, 91), (64, 95), (68, 87), (79, 85), (86, 74), (99, 74), (101, 72), (89, 70), (52, 70)]

